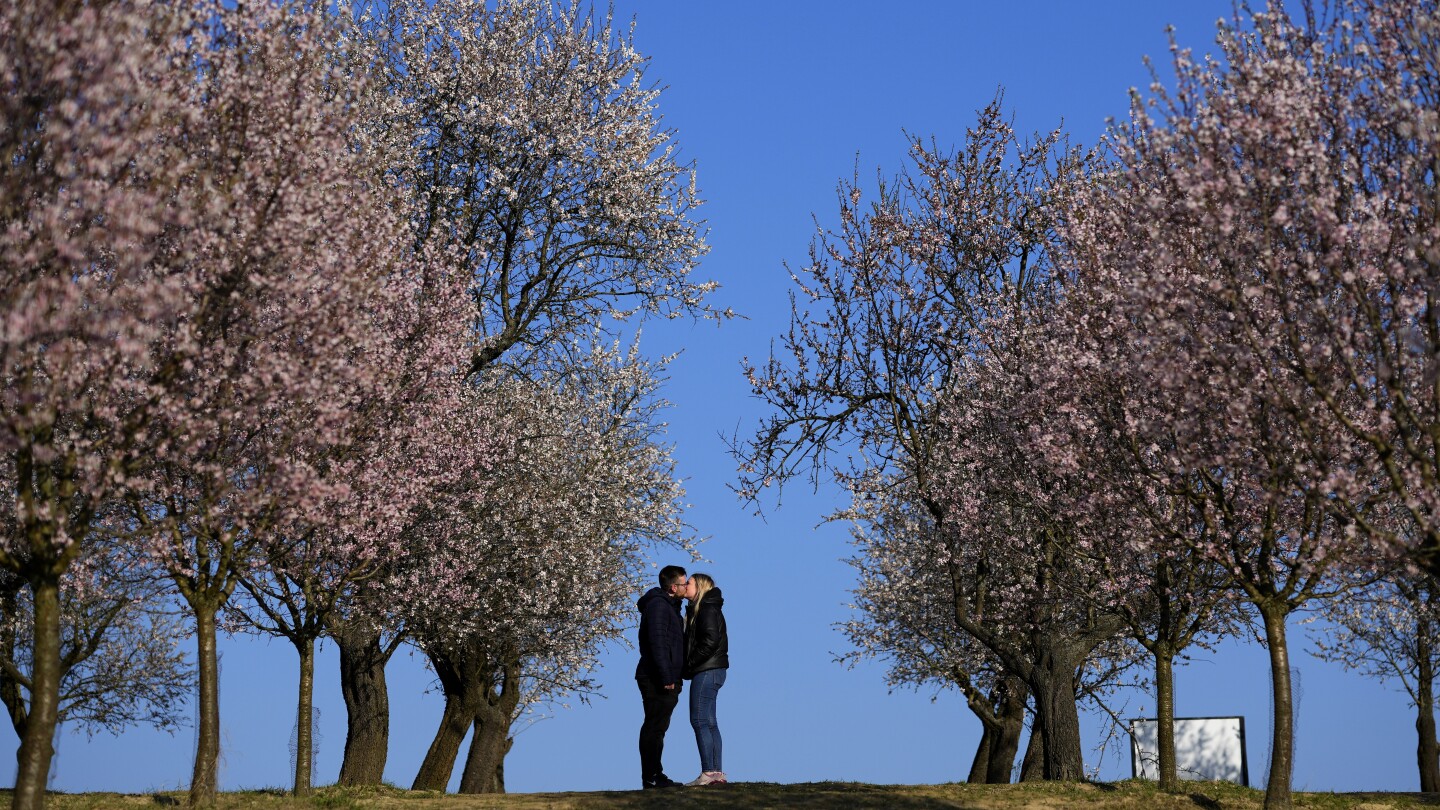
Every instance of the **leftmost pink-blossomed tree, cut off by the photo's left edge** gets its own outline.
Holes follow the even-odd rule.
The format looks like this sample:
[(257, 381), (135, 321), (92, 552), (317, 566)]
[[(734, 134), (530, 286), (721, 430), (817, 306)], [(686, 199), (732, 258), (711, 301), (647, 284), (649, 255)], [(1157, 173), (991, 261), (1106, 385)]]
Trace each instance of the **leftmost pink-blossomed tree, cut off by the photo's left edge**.
[(193, 20), (145, 1), (0, 9), (0, 565), (29, 588), (14, 807), (39, 809), (60, 712), (62, 579), (183, 408), (196, 277), (170, 261), (189, 172), (170, 69)]

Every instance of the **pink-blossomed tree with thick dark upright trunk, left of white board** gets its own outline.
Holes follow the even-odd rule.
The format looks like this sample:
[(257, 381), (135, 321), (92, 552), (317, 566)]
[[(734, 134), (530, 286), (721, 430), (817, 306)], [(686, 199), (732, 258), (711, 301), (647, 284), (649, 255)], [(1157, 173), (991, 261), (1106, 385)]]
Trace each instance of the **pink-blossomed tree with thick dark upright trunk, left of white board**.
[[(994, 346), (956, 369), (936, 415), (935, 463), (920, 490), (939, 516), (939, 558), (956, 626), (1031, 690), (1044, 778), (1084, 778), (1076, 673), (1122, 651), (1119, 602), (1133, 584), (1109, 565), (1123, 546), (1074, 506), (1093, 494), (1086, 467), (1044, 451), (1063, 408), (1050, 399), (1057, 357), (1045, 336), (1054, 304), (1028, 324), (995, 319)], [(1103, 549), (1103, 551), (1102, 551)], [(1133, 657), (1133, 656), (1126, 656)]]

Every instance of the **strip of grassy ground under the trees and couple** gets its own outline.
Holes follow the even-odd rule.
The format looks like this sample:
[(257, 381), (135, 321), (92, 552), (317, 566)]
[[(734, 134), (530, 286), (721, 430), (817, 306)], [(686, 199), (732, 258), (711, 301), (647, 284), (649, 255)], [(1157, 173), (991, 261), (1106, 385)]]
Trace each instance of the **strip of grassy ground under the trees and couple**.
[[(9, 791), (0, 791), (9, 803)], [(186, 794), (118, 793), (52, 794), (53, 810), (127, 810), (183, 807)], [(727, 787), (651, 791), (521, 793), (456, 796), (433, 791), (379, 788), (317, 788), (292, 797), (282, 790), (242, 790), (220, 794), (219, 810), (1259, 810), (1264, 793), (1228, 783), (1185, 783), (1178, 794), (1164, 794), (1155, 783), (1030, 783), (1014, 785), (881, 785), (860, 783), (736, 783)], [(1388, 810), (1440, 807), (1434, 793), (1296, 793), (1295, 806), (1319, 810)]]

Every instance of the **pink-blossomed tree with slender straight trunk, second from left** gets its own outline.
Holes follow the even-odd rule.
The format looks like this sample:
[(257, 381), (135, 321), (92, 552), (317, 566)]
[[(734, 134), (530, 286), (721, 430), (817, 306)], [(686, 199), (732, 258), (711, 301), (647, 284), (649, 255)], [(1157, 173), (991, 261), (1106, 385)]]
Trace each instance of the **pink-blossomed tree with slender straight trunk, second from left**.
[(285, 526), (314, 523), (344, 481), (321, 460), (346, 447), (356, 404), (389, 370), (386, 313), (413, 261), (402, 206), (354, 148), (361, 88), (341, 81), (340, 37), (317, 10), (202, 4), (171, 69), (186, 115), (168, 121), (184, 172), (164, 235), (183, 268), (186, 319), (166, 334), (176, 401), (125, 493), (131, 529), (196, 623), (197, 747), (190, 801), (216, 797), (216, 618)]

